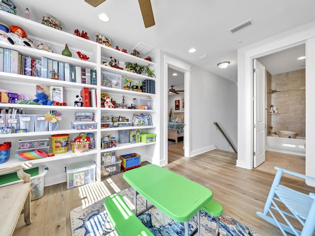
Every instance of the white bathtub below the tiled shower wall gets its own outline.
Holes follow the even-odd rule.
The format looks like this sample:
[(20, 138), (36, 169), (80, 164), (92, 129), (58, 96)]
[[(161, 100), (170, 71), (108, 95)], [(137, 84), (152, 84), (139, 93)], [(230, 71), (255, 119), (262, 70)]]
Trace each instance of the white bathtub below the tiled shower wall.
[(278, 135), (266, 137), (266, 150), (305, 156), (305, 138), (279, 138)]

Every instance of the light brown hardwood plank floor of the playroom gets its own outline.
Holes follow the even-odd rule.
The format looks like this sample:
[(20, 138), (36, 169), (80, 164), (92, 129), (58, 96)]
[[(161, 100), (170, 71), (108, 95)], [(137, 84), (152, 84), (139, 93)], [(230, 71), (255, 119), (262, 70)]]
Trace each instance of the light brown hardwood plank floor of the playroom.
[[(172, 145), (173, 146), (173, 145)], [(177, 150), (176, 150), (177, 149)], [(212, 190), (223, 212), (252, 228), (261, 236), (280, 236), (280, 230), (256, 215), (262, 211), (273, 174), (261, 170), (247, 170), (235, 166), (237, 154), (212, 150), (191, 158), (182, 157), (182, 148), (169, 149), (170, 164), (164, 168), (200, 183)], [(177, 160), (175, 160), (177, 159)], [(142, 163), (143, 165), (148, 163)], [(302, 192), (315, 192), (315, 187), (284, 177), (286, 186)], [(102, 182), (66, 189), (66, 184), (47, 186), (42, 198), (31, 202), (32, 224), (26, 226), (20, 216), (14, 236), (71, 236), (70, 211), (110, 194), (128, 188), (123, 172)]]

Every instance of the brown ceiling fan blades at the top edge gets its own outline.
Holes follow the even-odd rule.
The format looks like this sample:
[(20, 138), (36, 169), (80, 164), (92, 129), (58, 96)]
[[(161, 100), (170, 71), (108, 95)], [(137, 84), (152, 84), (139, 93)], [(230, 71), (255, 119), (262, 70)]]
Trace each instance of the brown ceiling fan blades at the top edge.
[[(91, 6), (96, 7), (102, 2), (104, 2), (105, 0), (85, 0), (85, 1), (89, 3)], [(154, 21), (151, 1), (150, 0), (138, 0), (138, 1), (139, 1), (145, 28), (154, 26), (156, 23)]]

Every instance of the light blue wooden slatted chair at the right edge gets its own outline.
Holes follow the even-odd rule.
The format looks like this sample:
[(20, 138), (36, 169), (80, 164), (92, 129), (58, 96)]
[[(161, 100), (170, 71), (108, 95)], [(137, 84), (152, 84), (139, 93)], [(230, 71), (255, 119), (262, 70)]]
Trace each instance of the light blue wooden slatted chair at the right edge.
[[(285, 187), (280, 184), (280, 180), (284, 173), (311, 181), (315, 181), (315, 178), (279, 167), (275, 167), (275, 169), (277, 173), (272, 183), (264, 212), (257, 211), (257, 215), (279, 227), (284, 236), (287, 236), (285, 232), (295, 236), (313, 236), (315, 231), (315, 194), (305, 194)], [(276, 218), (276, 215), (279, 215), (278, 213), (283, 218), (281, 221), (285, 223), (280, 222)], [(280, 216), (278, 217), (280, 218)], [(297, 219), (301, 223), (302, 231), (293, 227), (289, 221), (291, 218)]]

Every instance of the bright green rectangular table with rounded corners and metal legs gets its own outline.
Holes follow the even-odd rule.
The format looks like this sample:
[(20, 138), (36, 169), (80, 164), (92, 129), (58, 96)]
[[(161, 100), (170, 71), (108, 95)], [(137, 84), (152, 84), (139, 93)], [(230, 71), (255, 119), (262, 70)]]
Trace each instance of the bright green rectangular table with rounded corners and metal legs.
[(212, 199), (208, 188), (154, 164), (128, 170), (124, 179), (137, 192), (174, 221), (184, 222), (185, 236), (189, 235), (189, 219)]

